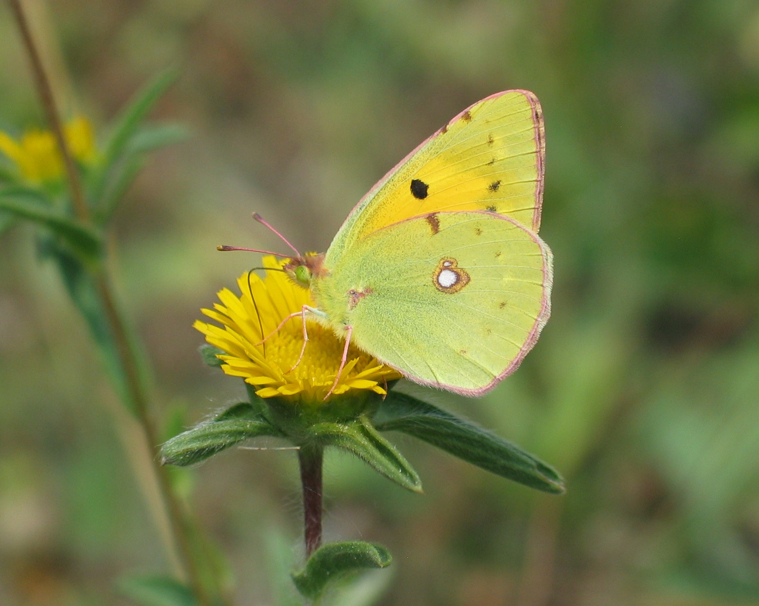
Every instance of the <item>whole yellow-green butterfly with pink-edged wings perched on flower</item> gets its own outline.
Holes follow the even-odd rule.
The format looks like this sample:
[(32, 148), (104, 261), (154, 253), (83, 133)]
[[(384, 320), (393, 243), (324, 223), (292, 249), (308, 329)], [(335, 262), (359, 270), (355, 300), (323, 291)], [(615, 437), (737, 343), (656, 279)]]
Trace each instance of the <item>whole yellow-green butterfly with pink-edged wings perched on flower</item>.
[(285, 319), (304, 318), (304, 348), (309, 315), (345, 339), (340, 370), (352, 342), (467, 396), (515, 371), (550, 315), (553, 257), (537, 235), (544, 138), (533, 93), (488, 96), (380, 179), (326, 253), (293, 248), (282, 267), (316, 303)]

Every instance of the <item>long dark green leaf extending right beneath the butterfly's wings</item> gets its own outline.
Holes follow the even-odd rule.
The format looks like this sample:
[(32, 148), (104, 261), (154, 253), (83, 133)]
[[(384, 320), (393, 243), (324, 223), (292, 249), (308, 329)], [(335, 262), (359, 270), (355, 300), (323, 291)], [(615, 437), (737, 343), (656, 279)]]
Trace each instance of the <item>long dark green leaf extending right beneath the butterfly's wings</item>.
[(375, 422), (379, 431), (402, 431), (539, 491), (565, 491), (564, 481), (555, 469), (516, 444), (405, 393), (389, 393)]

